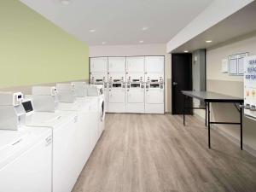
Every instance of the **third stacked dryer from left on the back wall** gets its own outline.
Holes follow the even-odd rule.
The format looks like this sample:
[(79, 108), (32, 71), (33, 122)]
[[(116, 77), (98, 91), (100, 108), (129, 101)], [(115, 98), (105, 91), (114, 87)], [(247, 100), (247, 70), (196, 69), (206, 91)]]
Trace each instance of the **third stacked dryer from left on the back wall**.
[(144, 64), (144, 56), (126, 58), (127, 113), (145, 113)]

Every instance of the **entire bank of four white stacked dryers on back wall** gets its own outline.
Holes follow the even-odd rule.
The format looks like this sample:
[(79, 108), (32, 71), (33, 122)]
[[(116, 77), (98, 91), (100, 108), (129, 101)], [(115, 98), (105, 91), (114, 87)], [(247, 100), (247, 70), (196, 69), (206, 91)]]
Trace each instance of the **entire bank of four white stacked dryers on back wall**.
[(109, 113), (164, 113), (165, 57), (90, 58), (90, 84), (103, 84)]

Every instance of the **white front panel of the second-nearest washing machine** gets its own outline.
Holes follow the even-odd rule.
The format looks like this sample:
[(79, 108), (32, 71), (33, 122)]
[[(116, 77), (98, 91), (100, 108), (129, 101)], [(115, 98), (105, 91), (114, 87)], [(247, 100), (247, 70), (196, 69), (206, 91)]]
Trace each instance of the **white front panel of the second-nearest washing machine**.
[(73, 158), (77, 119), (54, 129), (53, 133), (53, 192), (70, 192), (76, 183), (76, 160)]

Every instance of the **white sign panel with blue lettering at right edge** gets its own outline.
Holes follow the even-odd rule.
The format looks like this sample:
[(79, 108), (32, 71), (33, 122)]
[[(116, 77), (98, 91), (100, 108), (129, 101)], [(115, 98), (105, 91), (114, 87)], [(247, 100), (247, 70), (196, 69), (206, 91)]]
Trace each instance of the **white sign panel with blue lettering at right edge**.
[(256, 119), (256, 55), (244, 61), (244, 113)]

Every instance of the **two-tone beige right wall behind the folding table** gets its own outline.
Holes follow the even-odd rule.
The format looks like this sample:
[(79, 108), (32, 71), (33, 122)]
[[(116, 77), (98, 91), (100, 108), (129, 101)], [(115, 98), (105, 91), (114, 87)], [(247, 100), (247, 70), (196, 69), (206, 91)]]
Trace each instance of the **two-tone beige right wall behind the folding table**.
[[(207, 90), (230, 96), (243, 97), (243, 77), (221, 73), (221, 61), (229, 55), (249, 52), (256, 55), (256, 34), (241, 38), (239, 41), (224, 44), (221, 47), (207, 49)], [(199, 113), (200, 114), (200, 113)], [(204, 115), (201, 114), (202, 117)], [(231, 104), (212, 105), (212, 118), (218, 120), (238, 121), (239, 113)], [(244, 143), (248, 150), (256, 152), (256, 121), (244, 118)], [(228, 135), (240, 139), (240, 130), (235, 125), (218, 125)]]

